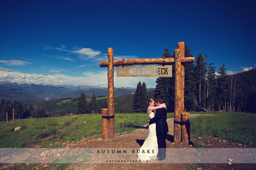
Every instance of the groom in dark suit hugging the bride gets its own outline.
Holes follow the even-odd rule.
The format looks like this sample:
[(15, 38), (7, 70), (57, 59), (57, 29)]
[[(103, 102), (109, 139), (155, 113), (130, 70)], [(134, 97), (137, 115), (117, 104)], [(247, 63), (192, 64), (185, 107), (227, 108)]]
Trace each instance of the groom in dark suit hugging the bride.
[[(160, 97), (155, 99), (155, 105), (160, 106), (163, 103)], [(148, 122), (152, 124), (156, 122), (156, 136), (158, 143), (158, 155), (159, 158), (157, 160), (164, 160), (166, 158), (166, 136), (169, 132), (168, 124), (166, 122), (167, 111), (166, 108), (159, 108), (156, 110), (155, 117), (150, 119)]]

